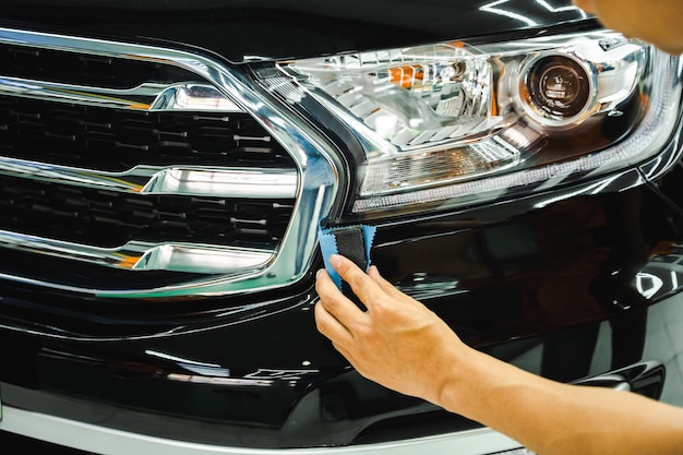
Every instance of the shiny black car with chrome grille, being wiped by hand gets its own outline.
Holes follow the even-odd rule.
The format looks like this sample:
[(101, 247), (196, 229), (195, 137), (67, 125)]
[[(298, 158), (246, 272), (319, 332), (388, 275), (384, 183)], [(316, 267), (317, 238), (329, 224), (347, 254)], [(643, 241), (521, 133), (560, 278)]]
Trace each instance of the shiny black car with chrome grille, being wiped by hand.
[(683, 405), (679, 57), (568, 0), (0, 5), (3, 447), (524, 453), (317, 333), (321, 229), (482, 351)]

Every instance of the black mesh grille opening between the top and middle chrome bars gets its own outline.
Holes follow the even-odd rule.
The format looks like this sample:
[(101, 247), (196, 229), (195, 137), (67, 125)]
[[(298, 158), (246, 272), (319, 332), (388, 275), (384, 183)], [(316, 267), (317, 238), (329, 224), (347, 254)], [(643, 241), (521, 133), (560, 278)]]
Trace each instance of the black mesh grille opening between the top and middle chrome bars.
[(247, 113), (109, 109), (0, 96), (0, 155), (103, 171), (136, 165), (295, 168)]

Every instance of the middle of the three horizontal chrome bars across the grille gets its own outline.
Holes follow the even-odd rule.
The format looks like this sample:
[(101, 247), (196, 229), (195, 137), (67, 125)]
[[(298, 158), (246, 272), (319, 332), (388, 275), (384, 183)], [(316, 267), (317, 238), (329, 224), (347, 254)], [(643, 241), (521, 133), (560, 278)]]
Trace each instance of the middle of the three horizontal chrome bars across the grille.
[(0, 175), (145, 194), (293, 199), (296, 169), (135, 166), (125, 172), (75, 169), (0, 156)]

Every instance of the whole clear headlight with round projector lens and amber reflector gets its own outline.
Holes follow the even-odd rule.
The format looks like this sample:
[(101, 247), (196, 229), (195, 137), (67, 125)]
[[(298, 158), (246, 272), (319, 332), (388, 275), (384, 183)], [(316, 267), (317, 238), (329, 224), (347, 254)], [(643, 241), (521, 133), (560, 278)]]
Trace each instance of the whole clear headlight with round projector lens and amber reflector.
[(378, 216), (472, 203), (654, 155), (652, 142), (678, 119), (678, 65), (638, 40), (598, 31), (280, 69), (364, 144), (352, 211)]

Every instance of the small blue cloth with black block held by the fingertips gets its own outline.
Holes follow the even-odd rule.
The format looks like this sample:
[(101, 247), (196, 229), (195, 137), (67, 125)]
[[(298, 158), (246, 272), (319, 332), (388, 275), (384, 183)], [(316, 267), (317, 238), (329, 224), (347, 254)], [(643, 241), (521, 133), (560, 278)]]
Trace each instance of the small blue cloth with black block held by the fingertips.
[(317, 230), (325, 270), (339, 290), (342, 290), (342, 277), (332, 268), (329, 256), (332, 254), (342, 254), (367, 272), (368, 267), (370, 267), (370, 250), (372, 249), (375, 231), (376, 227), (367, 225), (331, 228), (321, 226)]

